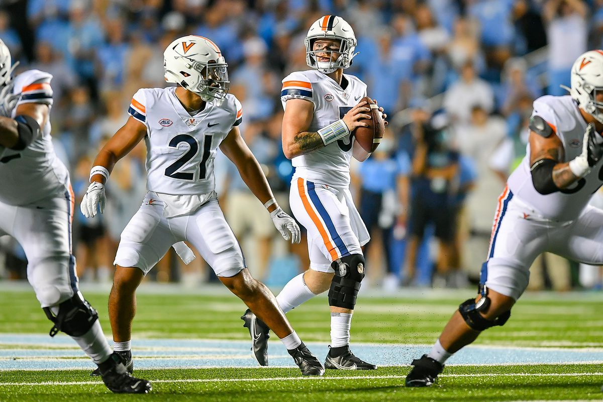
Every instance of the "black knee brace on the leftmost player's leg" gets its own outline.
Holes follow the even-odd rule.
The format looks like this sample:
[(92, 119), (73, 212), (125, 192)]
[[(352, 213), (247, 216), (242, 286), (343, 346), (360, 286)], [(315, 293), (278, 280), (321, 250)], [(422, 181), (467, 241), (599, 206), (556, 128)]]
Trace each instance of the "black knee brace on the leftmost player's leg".
[(54, 327), (50, 329), (50, 336), (55, 336), (58, 331), (71, 336), (82, 336), (98, 319), (96, 310), (81, 298), (79, 293), (59, 304), (57, 315), (52, 313), (50, 307), (44, 307), (43, 310), (48, 319), (54, 322)]

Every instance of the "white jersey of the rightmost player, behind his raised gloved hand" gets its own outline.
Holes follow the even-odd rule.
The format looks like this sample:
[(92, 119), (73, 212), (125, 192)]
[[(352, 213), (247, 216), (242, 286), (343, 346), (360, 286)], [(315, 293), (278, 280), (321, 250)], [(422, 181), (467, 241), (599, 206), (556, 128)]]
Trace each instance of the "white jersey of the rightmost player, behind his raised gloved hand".
[[(587, 124), (571, 96), (541, 96), (534, 101), (532, 116), (540, 116), (551, 126), (563, 143), (564, 159), (568, 162), (582, 152), (582, 139)], [(603, 161), (599, 161), (586, 177), (569, 189), (552, 194), (538, 193), (532, 184), (529, 165), (529, 144), (526, 156), (508, 179), (513, 195), (534, 207), (545, 218), (572, 221), (578, 218), (593, 193), (603, 184)]]

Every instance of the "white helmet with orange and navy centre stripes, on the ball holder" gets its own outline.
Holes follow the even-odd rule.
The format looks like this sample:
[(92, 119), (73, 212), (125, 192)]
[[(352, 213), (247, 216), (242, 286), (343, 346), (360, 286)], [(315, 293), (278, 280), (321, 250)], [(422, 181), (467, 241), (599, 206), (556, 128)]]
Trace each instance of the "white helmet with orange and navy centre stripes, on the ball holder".
[[(316, 52), (312, 47), (315, 40), (325, 38), (341, 40), (338, 51), (339, 57), (335, 61), (317, 61)], [(335, 15), (326, 15), (317, 19), (308, 30), (304, 43), (306, 45), (306, 63), (311, 68), (324, 74), (332, 73), (338, 68), (348, 68), (352, 65), (352, 59), (358, 54), (358, 52), (354, 53), (356, 36), (352, 27), (346, 20)], [(332, 51), (320, 51), (320, 53), (329, 53), (330, 55)]]

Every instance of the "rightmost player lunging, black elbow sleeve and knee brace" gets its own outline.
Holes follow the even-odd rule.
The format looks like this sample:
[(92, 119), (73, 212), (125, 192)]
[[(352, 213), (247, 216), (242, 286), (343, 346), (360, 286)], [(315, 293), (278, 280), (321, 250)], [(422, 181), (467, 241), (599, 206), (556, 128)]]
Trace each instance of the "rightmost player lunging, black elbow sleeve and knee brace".
[(406, 386), (430, 386), (444, 362), (479, 334), (504, 325), (541, 253), (603, 264), (603, 211), (589, 200), (603, 184), (603, 51), (572, 66), (569, 96), (534, 101), (526, 156), (498, 198), (478, 296), (459, 306)]

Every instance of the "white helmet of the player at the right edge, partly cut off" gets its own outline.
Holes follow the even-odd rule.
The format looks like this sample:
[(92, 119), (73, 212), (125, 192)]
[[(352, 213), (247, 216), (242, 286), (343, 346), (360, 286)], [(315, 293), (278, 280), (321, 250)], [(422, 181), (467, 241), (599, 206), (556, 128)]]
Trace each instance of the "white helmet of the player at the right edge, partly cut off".
[(572, 88), (569, 89), (569, 94), (578, 102), (579, 108), (603, 123), (603, 102), (596, 100), (597, 93), (602, 91), (603, 51), (590, 50), (573, 63)]

